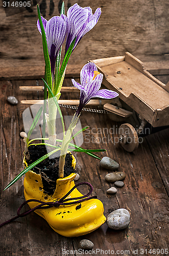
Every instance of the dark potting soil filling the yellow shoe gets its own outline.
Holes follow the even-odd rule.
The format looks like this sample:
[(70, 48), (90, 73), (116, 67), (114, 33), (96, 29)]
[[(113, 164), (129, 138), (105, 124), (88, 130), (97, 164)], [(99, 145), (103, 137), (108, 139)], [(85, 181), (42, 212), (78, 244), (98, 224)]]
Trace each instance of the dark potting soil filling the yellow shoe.
[[(26, 161), (27, 164), (30, 165), (47, 154), (46, 146), (30, 145), (29, 152), (26, 153), (26, 156), (28, 154), (30, 155), (30, 159)], [(59, 156), (60, 151), (53, 154), (51, 156), (52, 158), (46, 158), (32, 168), (33, 172), (41, 175), (44, 192), (48, 195), (52, 195), (54, 193), (57, 179), (59, 178)], [(72, 167), (72, 160), (73, 158), (71, 153), (68, 153), (65, 158), (64, 178), (69, 176), (71, 173), (76, 173), (76, 170)]]

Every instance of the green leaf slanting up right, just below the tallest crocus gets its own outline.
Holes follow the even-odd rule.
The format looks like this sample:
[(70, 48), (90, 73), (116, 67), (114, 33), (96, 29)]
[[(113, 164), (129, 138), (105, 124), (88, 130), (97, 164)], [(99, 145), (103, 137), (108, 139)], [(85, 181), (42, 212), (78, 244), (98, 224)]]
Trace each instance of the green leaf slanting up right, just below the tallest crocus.
[(57, 80), (57, 85), (56, 85), (56, 88), (55, 88), (55, 92), (56, 93), (59, 93), (61, 91), (61, 87), (62, 87), (62, 84), (61, 83), (61, 80), (62, 80), (62, 76), (65, 72), (65, 69), (66, 69), (66, 66), (67, 66), (67, 63), (68, 63), (68, 60), (70, 58), (70, 55), (72, 53), (72, 50), (73, 50), (73, 47), (74, 47), (74, 44), (75, 44), (75, 41), (76, 41), (76, 37), (74, 38), (74, 40), (72, 41), (67, 53), (65, 54), (65, 57), (64, 57), (64, 60), (62, 62), (62, 66), (61, 66), (61, 70), (60, 70), (60, 73), (59, 73), (59, 77), (58, 77), (58, 80)]

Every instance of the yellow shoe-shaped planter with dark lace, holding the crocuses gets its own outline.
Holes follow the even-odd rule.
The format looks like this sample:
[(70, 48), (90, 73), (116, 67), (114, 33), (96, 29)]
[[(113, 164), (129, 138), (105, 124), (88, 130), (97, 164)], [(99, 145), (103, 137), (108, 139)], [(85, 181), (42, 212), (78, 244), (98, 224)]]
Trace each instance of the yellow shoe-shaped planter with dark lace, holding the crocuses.
[[(24, 165), (27, 165), (24, 161)], [(75, 158), (72, 166), (75, 167)], [(58, 179), (53, 195), (43, 193), (41, 176), (32, 170), (25, 174), (24, 197), (26, 200), (37, 199), (43, 202), (58, 201), (75, 185), (76, 174), (71, 174), (66, 178)], [(77, 188), (67, 198), (83, 196)], [(31, 202), (29, 206), (34, 208), (38, 203)], [(90, 199), (73, 205), (60, 205), (58, 208), (38, 209), (35, 212), (43, 217), (48, 224), (59, 234), (65, 237), (77, 237), (90, 233), (100, 227), (106, 220), (103, 215), (103, 204), (98, 199)]]

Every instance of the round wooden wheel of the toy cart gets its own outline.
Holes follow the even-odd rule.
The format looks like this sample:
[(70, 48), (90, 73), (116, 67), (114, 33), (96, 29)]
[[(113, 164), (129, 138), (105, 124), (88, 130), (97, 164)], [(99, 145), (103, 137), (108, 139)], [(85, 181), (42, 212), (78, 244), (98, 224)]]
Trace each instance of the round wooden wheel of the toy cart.
[(134, 127), (129, 123), (124, 123), (119, 127), (119, 140), (122, 147), (127, 152), (133, 152), (138, 147), (138, 136)]

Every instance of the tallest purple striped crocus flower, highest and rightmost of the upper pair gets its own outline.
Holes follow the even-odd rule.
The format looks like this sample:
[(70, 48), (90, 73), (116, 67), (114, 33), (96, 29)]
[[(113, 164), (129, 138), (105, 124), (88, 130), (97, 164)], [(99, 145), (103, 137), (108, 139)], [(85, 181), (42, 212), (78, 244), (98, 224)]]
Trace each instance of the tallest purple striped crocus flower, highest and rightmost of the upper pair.
[(62, 14), (68, 27), (68, 35), (66, 41), (65, 52), (69, 49), (69, 46), (73, 39), (76, 37), (76, 41), (73, 50), (81, 40), (83, 35), (89, 32), (97, 24), (101, 15), (101, 9), (97, 8), (94, 14), (90, 7), (80, 7), (78, 4), (74, 4), (67, 11), (67, 16)]

